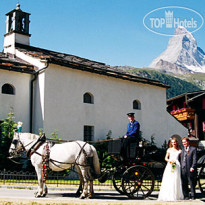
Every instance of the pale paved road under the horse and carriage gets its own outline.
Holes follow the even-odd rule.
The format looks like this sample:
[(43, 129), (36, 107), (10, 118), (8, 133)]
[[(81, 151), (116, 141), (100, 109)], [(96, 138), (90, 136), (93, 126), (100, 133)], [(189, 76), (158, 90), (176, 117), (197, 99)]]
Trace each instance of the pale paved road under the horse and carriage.
[[(32, 204), (32, 202), (36, 202), (38, 204), (137, 204), (137, 205), (160, 205), (160, 204), (168, 204), (168, 202), (158, 202), (157, 192), (154, 192), (151, 197), (146, 200), (131, 200), (126, 196), (120, 195), (115, 191), (96, 191), (95, 197), (93, 199), (84, 199), (80, 200), (75, 196), (75, 191), (70, 190), (49, 190), (48, 195), (45, 198), (35, 198), (34, 190), (30, 189), (20, 189), (20, 188), (0, 188), (0, 204), (6, 204), (6, 201), (11, 202), (11, 204)], [(171, 202), (172, 205), (198, 205), (204, 204), (205, 197), (200, 193), (197, 194), (197, 200), (194, 201), (179, 201), (179, 202)]]

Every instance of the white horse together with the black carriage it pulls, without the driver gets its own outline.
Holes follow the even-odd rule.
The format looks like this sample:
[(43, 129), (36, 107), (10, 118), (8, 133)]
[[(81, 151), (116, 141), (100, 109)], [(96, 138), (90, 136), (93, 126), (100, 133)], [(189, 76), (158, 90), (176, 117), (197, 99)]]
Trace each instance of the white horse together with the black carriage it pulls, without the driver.
[[(121, 140), (109, 140), (108, 153), (114, 159), (112, 168), (101, 170), (101, 183), (112, 176), (115, 189), (120, 194), (125, 194), (132, 199), (143, 199), (151, 195), (155, 188), (155, 182), (162, 178), (165, 167), (165, 151), (152, 146), (138, 146), (131, 143), (128, 148), (128, 160), (123, 161), (120, 156)], [(81, 198), (93, 193), (92, 168), (96, 174), (100, 174), (99, 159), (96, 149), (86, 142), (72, 141), (52, 146), (45, 138), (31, 133), (15, 133), (9, 153), (11, 157), (25, 151), (31, 158), (38, 176), (38, 190), (36, 196), (45, 196), (45, 169), (62, 171), (72, 166), (77, 168), (84, 182)], [(44, 159), (47, 158), (45, 161)], [(89, 160), (91, 159), (91, 160)], [(90, 164), (91, 162), (91, 164)], [(45, 173), (43, 173), (45, 174)], [(88, 180), (89, 179), (89, 180)], [(198, 160), (198, 186), (205, 194), (205, 155)], [(90, 192), (88, 183), (90, 181)]]

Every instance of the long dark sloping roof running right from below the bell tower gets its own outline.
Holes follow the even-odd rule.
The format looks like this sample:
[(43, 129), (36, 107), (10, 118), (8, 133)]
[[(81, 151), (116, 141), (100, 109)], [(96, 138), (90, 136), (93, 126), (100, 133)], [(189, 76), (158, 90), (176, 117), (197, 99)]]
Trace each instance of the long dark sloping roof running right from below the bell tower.
[(89, 60), (86, 58), (81, 58), (70, 54), (46, 50), (38, 47), (22, 45), (19, 43), (16, 43), (15, 47), (20, 52), (23, 52), (26, 55), (41, 60), (47, 60), (49, 63), (62, 65), (72, 69), (78, 69), (82, 71), (111, 76), (123, 80), (129, 80), (144, 84), (155, 85), (163, 88), (169, 88), (168, 85), (165, 85), (160, 81), (144, 78), (134, 74), (128, 74), (125, 71), (114, 69), (111, 66), (106, 65), (105, 63)]

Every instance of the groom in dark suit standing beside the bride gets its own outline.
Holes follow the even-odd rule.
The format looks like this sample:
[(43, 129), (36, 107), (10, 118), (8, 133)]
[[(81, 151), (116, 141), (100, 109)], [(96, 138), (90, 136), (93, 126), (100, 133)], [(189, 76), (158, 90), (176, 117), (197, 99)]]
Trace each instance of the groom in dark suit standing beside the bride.
[(184, 148), (181, 153), (181, 177), (182, 177), (182, 190), (184, 194), (184, 199), (189, 199), (189, 188), (191, 187), (191, 199), (195, 199), (195, 186), (196, 186), (196, 148), (190, 146), (189, 138), (184, 137), (182, 139), (182, 144)]

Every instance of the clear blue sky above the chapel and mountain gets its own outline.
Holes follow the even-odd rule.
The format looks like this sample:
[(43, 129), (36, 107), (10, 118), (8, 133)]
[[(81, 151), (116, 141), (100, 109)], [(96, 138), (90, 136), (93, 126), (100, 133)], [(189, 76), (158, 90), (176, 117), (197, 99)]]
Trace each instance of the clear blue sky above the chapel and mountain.
[[(205, 17), (204, 0), (1, 0), (1, 50), (5, 14), (18, 2), (23, 11), (31, 13), (32, 46), (112, 66), (146, 67), (166, 49), (170, 36), (152, 33), (143, 24), (150, 11), (180, 6)], [(205, 26), (193, 35), (205, 50)]]

